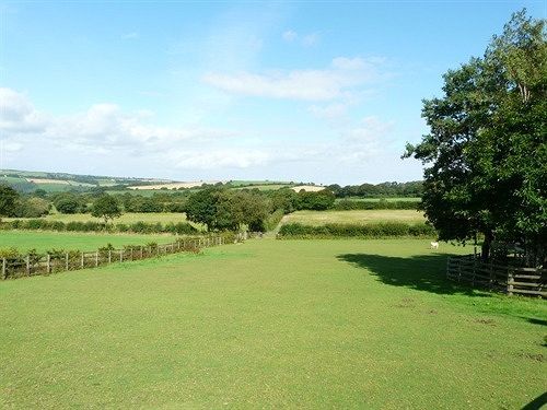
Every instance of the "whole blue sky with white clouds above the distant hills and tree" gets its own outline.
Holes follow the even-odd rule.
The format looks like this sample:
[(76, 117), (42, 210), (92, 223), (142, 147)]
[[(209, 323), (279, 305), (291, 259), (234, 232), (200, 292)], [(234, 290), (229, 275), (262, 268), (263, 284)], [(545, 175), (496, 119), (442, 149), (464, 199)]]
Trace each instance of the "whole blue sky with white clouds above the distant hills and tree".
[(423, 98), (540, 1), (2, 1), (0, 168), (422, 177)]

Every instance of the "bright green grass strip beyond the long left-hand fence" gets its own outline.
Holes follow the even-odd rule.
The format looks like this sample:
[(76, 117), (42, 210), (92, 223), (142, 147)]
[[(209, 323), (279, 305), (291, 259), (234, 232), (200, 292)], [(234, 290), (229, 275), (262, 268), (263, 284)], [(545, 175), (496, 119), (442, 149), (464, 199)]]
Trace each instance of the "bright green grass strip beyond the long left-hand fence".
[(50, 249), (96, 250), (112, 244), (115, 248), (124, 245), (146, 245), (172, 243), (173, 235), (103, 234), (72, 232), (0, 231), (0, 248), (14, 247), (22, 253), (28, 249), (46, 251)]

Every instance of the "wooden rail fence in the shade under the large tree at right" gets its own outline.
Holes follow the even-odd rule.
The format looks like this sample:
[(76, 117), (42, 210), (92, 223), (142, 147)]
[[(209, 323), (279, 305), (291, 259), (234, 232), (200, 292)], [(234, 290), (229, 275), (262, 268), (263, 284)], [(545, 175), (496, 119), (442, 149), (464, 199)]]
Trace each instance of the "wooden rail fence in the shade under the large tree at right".
[(446, 278), (509, 295), (547, 296), (547, 269), (486, 263), (475, 255), (449, 257)]

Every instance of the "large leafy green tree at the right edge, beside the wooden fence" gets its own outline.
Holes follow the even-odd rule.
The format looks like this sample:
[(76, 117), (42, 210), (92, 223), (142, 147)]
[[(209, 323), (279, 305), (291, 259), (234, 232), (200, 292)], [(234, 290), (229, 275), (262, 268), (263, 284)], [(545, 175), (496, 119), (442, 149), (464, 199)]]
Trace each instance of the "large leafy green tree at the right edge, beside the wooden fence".
[(524, 241), (531, 263), (547, 245), (547, 42), (545, 20), (513, 14), (484, 57), (444, 75), (423, 102), (430, 127), (405, 156), (427, 165), (423, 210), (441, 239)]

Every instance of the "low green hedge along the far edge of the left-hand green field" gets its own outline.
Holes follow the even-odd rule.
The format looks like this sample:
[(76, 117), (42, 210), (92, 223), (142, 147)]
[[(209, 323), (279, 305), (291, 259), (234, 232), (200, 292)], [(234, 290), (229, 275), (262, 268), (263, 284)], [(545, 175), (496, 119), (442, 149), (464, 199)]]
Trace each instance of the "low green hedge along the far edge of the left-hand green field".
[(100, 222), (60, 222), (48, 221), (44, 219), (33, 220), (14, 220), (10, 222), (2, 222), (2, 230), (30, 230), (30, 231), (57, 231), (57, 232), (128, 232), (139, 234), (195, 234), (198, 231), (188, 222), (167, 223), (146, 223), (135, 222), (131, 224), (118, 223), (113, 225), (104, 225)]

